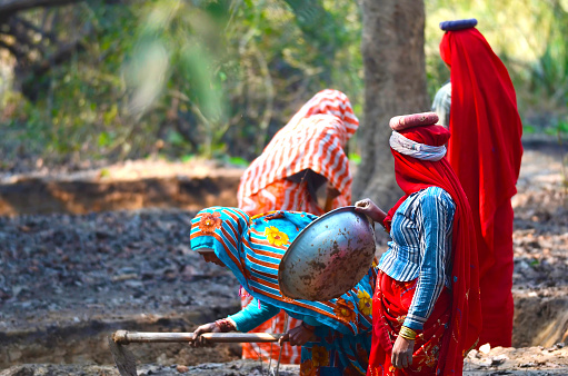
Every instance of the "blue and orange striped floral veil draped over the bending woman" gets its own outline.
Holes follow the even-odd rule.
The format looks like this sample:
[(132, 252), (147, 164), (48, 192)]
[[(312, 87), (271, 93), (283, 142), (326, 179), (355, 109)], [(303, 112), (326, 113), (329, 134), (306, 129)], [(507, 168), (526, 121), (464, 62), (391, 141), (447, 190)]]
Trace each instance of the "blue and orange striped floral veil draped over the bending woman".
[(373, 268), (336, 299), (290, 299), (280, 293), (280, 260), (298, 234), (316, 218), (306, 212), (276, 211), (249, 219), (242, 210), (212, 207), (201, 210), (191, 221), (191, 248), (213, 249), (247, 293), (261, 304), (285, 309), (298, 319), (310, 316), (346, 335), (370, 330), (371, 310), (366, 304), (375, 288)]

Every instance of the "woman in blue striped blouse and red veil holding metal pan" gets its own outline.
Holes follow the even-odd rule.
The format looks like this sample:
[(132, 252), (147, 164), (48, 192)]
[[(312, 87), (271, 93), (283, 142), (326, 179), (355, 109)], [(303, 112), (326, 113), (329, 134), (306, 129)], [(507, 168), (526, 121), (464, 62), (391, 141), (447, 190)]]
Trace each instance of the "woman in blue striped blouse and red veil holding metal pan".
[(449, 131), (434, 112), (391, 119), (390, 147), (405, 196), (385, 214), (359, 211), (390, 231), (372, 301), (367, 375), (461, 375), (480, 330), (470, 208), (445, 158)]

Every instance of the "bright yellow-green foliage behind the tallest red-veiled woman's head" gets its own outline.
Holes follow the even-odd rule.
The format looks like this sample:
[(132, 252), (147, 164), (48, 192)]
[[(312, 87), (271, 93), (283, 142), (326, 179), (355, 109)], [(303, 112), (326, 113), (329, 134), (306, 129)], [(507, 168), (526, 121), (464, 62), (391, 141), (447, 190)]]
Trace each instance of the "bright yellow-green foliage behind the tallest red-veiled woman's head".
[(426, 56), (431, 96), (449, 71), (439, 58), (438, 23), (477, 18), (504, 60), (525, 121), (542, 131), (568, 120), (568, 2), (566, 0), (427, 0)]

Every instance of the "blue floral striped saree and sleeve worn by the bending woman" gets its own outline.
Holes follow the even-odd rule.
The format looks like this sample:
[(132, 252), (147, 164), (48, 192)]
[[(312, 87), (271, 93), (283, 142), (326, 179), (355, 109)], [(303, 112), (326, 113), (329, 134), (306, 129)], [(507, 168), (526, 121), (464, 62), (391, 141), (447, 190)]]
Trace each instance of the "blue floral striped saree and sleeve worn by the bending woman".
[(315, 332), (318, 340), (302, 346), (300, 367), (317, 367), (319, 375), (342, 375), (348, 368), (365, 374), (371, 346), (375, 267), (337, 299), (296, 300), (280, 294), (280, 260), (291, 241), (316, 218), (290, 211), (249, 218), (239, 209), (212, 207), (198, 212), (191, 221), (191, 248), (212, 249), (255, 298), (252, 303), (260, 301), (259, 309), (250, 307), (237, 316), (239, 329), (249, 328), (252, 324), (248, 320), (270, 318), (278, 309), (285, 309), (295, 318), (321, 324)]

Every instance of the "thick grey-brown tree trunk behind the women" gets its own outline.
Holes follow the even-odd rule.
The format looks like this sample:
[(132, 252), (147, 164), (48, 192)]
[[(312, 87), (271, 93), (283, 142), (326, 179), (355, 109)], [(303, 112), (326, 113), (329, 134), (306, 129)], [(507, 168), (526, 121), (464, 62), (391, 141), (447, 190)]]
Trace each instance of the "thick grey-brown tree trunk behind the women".
[(390, 208), (402, 195), (395, 180), (389, 120), (429, 110), (423, 51), (423, 0), (362, 0), (365, 119), (357, 139), (361, 165), (353, 199)]

